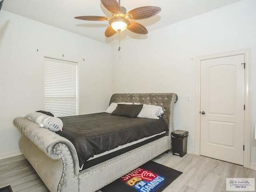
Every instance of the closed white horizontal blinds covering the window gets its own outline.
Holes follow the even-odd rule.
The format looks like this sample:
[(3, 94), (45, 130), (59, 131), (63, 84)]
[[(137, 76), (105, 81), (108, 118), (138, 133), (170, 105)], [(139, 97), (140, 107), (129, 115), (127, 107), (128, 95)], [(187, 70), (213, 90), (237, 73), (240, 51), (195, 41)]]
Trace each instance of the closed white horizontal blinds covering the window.
[(77, 115), (77, 63), (44, 58), (44, 110)]

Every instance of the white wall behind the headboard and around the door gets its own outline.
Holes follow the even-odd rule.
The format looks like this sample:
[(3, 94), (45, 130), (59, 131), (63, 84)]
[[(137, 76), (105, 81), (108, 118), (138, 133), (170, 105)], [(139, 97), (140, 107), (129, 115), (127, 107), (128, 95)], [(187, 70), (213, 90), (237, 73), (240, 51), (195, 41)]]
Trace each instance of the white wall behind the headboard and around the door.
[[(252, 136), (256, 122), (256, 1), (235, 4), (160, 28), (147, 39), (112, 46), (112, 92), (176, 92), (174, 128), (188, 130), (195, 149), (195, 57), (251, 48)], [(186, 101), (191, 95), (191, 101)], [(256, 163), (256, 140), (251, 141)]]

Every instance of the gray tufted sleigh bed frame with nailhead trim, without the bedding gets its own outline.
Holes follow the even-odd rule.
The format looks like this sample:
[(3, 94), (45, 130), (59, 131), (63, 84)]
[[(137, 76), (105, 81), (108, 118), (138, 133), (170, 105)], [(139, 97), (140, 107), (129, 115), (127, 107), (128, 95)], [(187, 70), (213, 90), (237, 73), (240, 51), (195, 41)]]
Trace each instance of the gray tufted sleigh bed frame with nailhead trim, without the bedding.
[(171, 149), (170, 134), (174, 130), (173, 110), (177, 99), (175, 93), (113, 94), (110, 104), (132, 102), (162, 106), (164, 114), (160, 118), (166, 122), (168, 130), (156, 140), (84, 170), (80, 170), (81, 163), (76, 148), (67, 138), (40, 128), (24, 117), (15, 118), (13, 123), (21, 132), (20, 150), (50, 192), (95, 192)]

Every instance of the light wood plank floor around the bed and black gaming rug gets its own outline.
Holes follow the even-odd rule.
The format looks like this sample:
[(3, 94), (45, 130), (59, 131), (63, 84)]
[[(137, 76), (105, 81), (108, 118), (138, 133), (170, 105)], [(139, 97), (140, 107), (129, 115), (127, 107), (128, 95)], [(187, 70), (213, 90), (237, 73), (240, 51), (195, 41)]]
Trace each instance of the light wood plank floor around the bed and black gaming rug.
[[(256, 178), (256, 170), (193, 154), (169, 152), (154, 161), (183, 172), (163, 192), (226, 192), (226, 178)], [(0, 186), (7, 184), (13, 192), (49, 192), (23, 155), (0, 160)]]

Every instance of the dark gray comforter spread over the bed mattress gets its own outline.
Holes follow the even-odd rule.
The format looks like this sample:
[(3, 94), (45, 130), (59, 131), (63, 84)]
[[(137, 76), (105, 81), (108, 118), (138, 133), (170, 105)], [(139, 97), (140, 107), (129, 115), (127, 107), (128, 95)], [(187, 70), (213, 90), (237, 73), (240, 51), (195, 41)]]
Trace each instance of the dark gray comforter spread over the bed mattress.
[(60, 117), (62, 132), (76, 148), (79, 166), (95, 154), (168, 130), (159, 118), (128, 118), (108, 113)]

